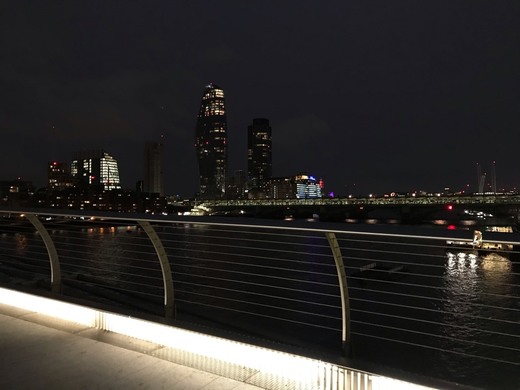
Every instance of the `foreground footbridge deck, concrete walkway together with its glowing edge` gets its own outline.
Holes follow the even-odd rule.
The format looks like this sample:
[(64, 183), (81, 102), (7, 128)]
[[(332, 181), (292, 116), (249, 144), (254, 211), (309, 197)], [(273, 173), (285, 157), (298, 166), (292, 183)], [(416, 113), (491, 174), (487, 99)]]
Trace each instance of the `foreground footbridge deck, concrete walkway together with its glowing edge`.
[(0, 345), (2, 389), (431, 388), (4, 288)]

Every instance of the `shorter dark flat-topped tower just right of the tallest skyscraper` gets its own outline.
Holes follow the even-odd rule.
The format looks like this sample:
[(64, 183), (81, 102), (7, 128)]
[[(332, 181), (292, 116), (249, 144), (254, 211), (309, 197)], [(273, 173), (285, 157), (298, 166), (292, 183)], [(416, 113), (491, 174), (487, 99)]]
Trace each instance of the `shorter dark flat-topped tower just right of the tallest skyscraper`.
[(271, 126), (268, 119), (255, 118), (247, 130), (247, 175), (250, 188), (257, 188), (273, 172)]

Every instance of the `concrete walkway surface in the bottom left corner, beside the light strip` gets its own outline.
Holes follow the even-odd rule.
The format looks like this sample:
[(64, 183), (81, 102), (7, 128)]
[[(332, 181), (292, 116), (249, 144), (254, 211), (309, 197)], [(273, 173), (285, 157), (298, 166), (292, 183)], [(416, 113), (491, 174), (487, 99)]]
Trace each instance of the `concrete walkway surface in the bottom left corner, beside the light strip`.
[(148, 355), (154, 348), (0, 305), (0, 389), (259, 389)]

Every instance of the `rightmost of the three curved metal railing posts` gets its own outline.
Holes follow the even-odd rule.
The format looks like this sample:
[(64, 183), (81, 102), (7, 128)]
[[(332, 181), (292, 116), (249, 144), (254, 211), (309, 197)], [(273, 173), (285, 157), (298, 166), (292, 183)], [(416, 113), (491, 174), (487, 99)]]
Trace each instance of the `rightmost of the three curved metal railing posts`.
[(338, 273), (339, 290), (341, 294), (341, 346), (345, 356), (351, 355), (350, 345), (350, 301), (348, 296), (347, 275), (345, 273), (345, 266), (343, 264), (343, 256), (338, 244), (336, 235), (331, 232), (325, 232), (325, 237), (329, 242), (330, 249), (334, 255), (334, 263), (336, 264), (336, 271)]

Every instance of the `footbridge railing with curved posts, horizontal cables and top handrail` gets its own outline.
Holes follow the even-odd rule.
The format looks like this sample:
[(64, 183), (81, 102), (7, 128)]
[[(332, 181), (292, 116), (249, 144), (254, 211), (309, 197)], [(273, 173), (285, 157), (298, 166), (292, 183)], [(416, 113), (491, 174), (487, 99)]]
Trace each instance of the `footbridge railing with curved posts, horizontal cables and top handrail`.
[(477, 250), (470, 231), (41, 210), (2, 215), (3, 284), (312, 353), (342, 351), (384, 366), (398, 361), (454, 382), (482, 383), (486, 370), (518, 375), (514, 234), (484, 233), (492, 240)]

